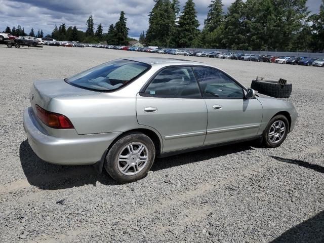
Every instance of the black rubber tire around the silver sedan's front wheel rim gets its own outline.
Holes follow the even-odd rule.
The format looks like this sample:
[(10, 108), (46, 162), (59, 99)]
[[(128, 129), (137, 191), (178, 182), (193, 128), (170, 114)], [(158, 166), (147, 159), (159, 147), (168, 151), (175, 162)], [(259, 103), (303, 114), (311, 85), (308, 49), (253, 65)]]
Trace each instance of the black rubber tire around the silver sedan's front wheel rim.
[[(270, 140), (268, 135), (269, 135), (272, 124), (274, 124), (276, 121), (282, 121), (286, 126), (286, 130), (285, 130), (285, 133), (282, 135), (281, 140), (276, 142), (276, 143), (273, 143)], [(289, 121), (288, 121), (288, 119), (287, 119), (287, 117), (285, 115), (276, 115), (276, 116), (272, 117), (272, 119), (269, 121), (266, 129), (263, 132), (262, 145), (264, 145), (264, 146), (266, 146), (268, 148), (279, 147), (285, 141), (289, 129), (290, 129), (289, 128)]]

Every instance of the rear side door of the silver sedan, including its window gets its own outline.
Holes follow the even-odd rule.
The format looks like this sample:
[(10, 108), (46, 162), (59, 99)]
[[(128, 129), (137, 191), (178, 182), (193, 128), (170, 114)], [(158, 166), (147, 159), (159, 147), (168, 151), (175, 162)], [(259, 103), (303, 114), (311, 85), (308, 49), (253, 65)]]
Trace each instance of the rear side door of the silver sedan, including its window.
[(163, 152), (203, 146), (207, 108), (191, 67), (160, 70), (136, 97), (137, 120), (163, 138)]

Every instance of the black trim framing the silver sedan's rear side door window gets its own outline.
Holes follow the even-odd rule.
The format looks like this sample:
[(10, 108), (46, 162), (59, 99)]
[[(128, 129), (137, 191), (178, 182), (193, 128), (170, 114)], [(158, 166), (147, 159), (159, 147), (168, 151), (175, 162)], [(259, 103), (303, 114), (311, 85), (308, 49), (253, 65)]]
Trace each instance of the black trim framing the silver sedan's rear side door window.
[(140, 96), (142, 97), (152, 97), (152, 98), (174, 98), (174, 99), (204, 99), (203, 98), (203, 94), (201, 94), (201, 89), (200, 89), (200, 86), (198, 84), (198, 80), (193, 72), (193, 76), (194, 76), (194, 79), (198, 85), (198, 89), (199, 89), (199, 92), (200, 92), (200, 96), (196, 96), (196, 97), (186, 97), (186, 96), (169, 96), (169, 95), (150, 95), (150, 94), (146, 94), (145, 93), (145, 90), (147, 89), (147, 87), (152, 83), (152, 81), (154, 80), (154, 78), (161, 72), (163, 71), (164, 69), (167, 69), (167, 68), (175, 68), (175, 67), (188, 67), (192, 70), (192, 65), (170, 65), (170, 66), (165, 66), (165, 67), (162, 67), (160, 69), (158, 69), (148, 80), (147, 82), (145, 83), (145, 85), (140, 89), (140, 92), (138, 93)]

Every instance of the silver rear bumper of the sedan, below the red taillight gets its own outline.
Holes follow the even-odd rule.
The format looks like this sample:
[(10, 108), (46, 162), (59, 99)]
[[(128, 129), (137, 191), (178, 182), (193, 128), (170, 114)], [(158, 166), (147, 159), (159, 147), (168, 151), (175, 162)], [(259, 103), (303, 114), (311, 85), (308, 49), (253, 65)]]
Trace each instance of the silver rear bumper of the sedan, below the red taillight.
[(77, 135), (69, 138), (50, 136), (36, 120), (32, 108), (23, 114), (28, 143), (37, 156), (59, 165), (92, 165), (100, 161), (112, 141), (121, 134), (101, 133)]

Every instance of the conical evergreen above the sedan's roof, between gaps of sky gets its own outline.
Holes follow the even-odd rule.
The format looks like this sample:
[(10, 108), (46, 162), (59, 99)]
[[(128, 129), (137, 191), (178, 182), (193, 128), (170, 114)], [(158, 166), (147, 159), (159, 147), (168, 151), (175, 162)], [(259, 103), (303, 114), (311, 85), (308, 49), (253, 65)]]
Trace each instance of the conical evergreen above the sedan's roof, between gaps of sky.
[(179, 17), (177, 42), (179, 47), (191, 47), (194, 39), (198, 36), (199, 22), (196, 16), (195, 4), (188, 0), (184, 6), (182, 15)]

